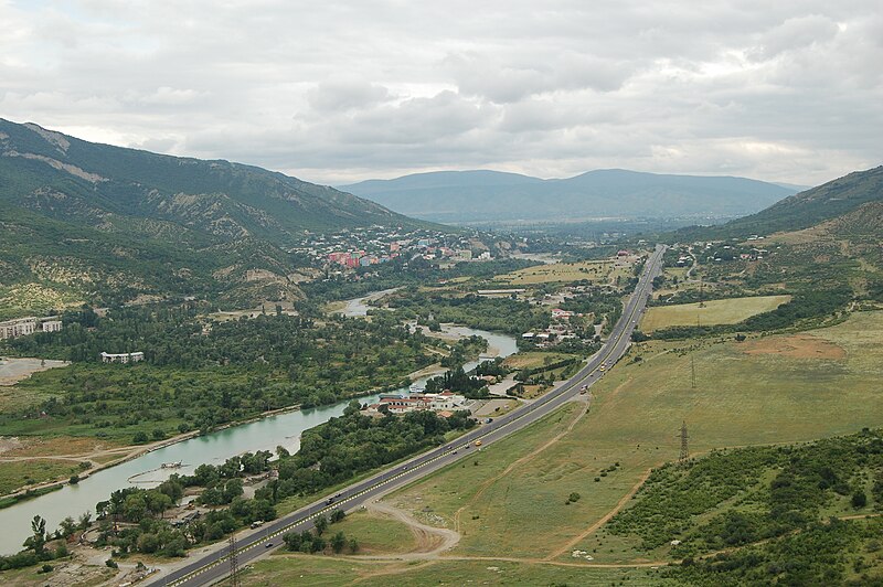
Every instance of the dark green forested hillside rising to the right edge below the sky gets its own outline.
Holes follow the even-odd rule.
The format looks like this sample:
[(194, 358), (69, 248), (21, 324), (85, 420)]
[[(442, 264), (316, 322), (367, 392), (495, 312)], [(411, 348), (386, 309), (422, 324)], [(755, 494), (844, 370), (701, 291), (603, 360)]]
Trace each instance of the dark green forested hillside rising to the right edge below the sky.
[[(708, 238), (744, 237), (799, 231), (883, 201), (883, 166), (855, 171), (817, 188), (786, 198), (751, 216), (709, 228), (684, 228), (682, 234)], [(860, 218), (849, 216), (852, 221)]]

